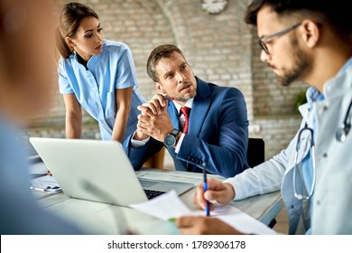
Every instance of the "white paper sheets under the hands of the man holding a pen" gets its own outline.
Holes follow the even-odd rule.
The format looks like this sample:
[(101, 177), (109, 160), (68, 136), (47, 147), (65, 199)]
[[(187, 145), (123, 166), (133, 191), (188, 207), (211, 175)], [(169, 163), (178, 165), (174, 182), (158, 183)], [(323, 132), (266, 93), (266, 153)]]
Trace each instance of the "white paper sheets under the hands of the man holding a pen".
[[(190, 211), (190, 209), (181, 201), (176, 192), (171, 191), (164, 193), (151, 201), (132, 204), (132, 208), (143, 211), (149, 215), (162, 220), (179, 218), (184, 215), (204, 216), (205, 211)], [(247, 234), (277, 234), (264, 223), (255, 220), (243, 211), (239, 211), (233, 206), (216, 206), (215, 211), (210, 213), (211, 217), (223, 220), (236, 230)]]

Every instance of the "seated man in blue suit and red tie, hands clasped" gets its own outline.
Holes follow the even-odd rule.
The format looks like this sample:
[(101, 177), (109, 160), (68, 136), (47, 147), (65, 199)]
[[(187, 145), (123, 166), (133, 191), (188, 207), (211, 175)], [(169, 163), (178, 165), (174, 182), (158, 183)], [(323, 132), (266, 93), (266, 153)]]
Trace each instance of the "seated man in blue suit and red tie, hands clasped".
[(204, 163), (208, 173), (231, 177), (248, 167), (248, 120), (240, 90), (195, 77), (174, 45), (155, 48), (147, 72), (158, 93), (139, 107), (137, 129), (124, 143), (135, 170), (163, 145), (178, 171), (199, 173)]

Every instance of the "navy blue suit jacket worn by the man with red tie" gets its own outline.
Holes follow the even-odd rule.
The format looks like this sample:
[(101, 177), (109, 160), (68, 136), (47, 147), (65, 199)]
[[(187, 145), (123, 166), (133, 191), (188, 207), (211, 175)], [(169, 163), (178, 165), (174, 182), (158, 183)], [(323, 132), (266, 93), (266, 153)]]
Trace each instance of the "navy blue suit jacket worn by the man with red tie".
[[(247, 167), (248, 120), (245, 98), (236, 88), (219, 87), (197, 78), (197, 95), (190, 110), (189, 133), (184, 136), (178, 154), (168, 151), (178, 171), (202, 172), (206, 163), (208, 173), (232, 177)], [(179, 114), (172, 102), (168, 113), (172, 126), (180, 129)], [(134, 169), (158, 152), (163, 143), (153, 138), (138, 148), (130, 145), (129, 136), (124, 147)]]

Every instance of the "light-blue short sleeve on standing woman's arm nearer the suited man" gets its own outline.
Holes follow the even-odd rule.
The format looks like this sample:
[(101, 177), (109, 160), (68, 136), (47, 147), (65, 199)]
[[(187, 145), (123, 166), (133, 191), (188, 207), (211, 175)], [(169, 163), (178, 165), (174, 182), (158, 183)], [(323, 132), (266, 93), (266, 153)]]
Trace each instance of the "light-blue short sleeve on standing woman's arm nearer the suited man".
[(121, 49), (117, 60), (116, 89), (126, 89), (137, 84), (137, 75), (134, 67), (134, 59), (127, 45)]

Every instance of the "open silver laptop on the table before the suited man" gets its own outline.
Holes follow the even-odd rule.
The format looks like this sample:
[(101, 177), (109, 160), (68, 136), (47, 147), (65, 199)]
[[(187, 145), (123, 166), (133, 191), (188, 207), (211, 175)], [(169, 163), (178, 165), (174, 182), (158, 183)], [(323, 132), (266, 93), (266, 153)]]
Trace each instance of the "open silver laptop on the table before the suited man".
[(175, 190), (181, 195), (193, 188), (192, 183), (138, 179), (123, 146), (116, 141), (29, 140), (62, 192), (73, 198), (129, 206), (163, 192)]

